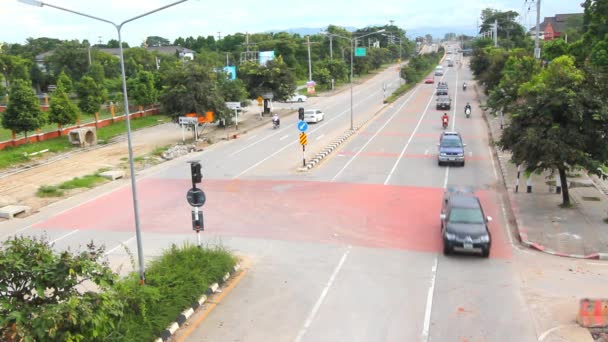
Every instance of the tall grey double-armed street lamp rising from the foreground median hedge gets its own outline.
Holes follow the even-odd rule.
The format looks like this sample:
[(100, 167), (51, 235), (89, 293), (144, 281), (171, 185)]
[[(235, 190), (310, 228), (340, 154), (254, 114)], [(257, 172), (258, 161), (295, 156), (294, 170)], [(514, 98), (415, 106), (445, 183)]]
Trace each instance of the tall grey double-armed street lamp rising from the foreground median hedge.
[(125, 121), (127, 122), (127, 141), (128, 141), (128, 145), (129, 145), (129, 167), (130, 167), (130, 171), (131, 171), (131, 189), (133, 192), (133, 211), (134, 211), (134, 215), (135, 215), (135, 233), (137, 236), (137, 256), (138, 256), (138, 260), (139, 260), (139, 281), (142, 285), (146, 281), (146, 275), (145, 275), (145, 268), (144, 268), (144, 252), (143, 252), (142, 242), (141, 242), (141, 229), (140, 229), (140, 225), (139, 225), (139, 208), (137, 205), (137, 185), (135, 182), (135, 166), (133, 164), (133, 144), (131, 142), (131, 120), (129, 118), (129, 116), (130, 116), (129, 99), (127, 98), (127, 77), (125, 75), (125, 59), (124, 59), (124, 56), (122, 53), (122, 36), (120, 34), (120, 30), (122, 29), (122, 26), (128, 22), (145, 17), (152, 13), (156, 13), (158, 11), (162, 11), (166, 8), (175, 6), (177, 4), (181, 4), (182, 2), (186, 2), (186, 1), (188, 1), (188, 0), (175, 1), (166, 6), (157, 8), (155, 10), (146, 12), (144, 14), (140, 14), (131, 19), (127, 19), (120, 24), (115, 24), (114, 22), (107, 20), (107, 19), (98, 18), (98, 17), (92, 16), (92, 15), (89, 15), (86, 13), (73, 11), (73, 10), (55, 6), (55, 5), (46, 3), (46, 2), (37, 1), (37, 0), (19, 0), (19, 2), (22, 2), (24, 4), (37, 6), (37, 7), (48, 6), (48, 7), (52, 7), (52, 8), (61, 10), (61, 11), (70, 12), (70, 13), (74, 13), (74, 14), (77, 14), (77, 15), (80, 15), (83, 17), (103, 21), (104, 23), (108, 23), (108, 24), (114, 26), (114, 28), (116, 28), (116, 31), (118, 32), (118, 47), (119, 47), (119, 51), (120, 51), (120, 69), (122, 71), (122, 92), (123, 92), (123, 97), (124, 97), (124, 102), (125, 102), (125, 117), (126, 117)]

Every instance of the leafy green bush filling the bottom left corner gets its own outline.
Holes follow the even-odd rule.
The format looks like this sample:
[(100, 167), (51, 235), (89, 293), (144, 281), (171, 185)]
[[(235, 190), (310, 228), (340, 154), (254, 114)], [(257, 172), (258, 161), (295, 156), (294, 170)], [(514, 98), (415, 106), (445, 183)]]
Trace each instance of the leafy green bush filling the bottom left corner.
[[(13, 237), (0, 248), (0, 339), (103, 341), (123, 315), (112, 291), (118, 276), (102, 263), (104, 249), (56, 254), (47, 241)], [(82, 288), (93, 283), (101, 291)]]

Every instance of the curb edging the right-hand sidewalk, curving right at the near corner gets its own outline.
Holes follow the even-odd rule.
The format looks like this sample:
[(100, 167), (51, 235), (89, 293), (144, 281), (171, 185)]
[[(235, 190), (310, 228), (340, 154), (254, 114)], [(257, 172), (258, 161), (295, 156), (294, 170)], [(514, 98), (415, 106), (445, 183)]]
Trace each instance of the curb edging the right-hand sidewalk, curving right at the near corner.
[[(474, 84), (473, 87), (475, 89), (475, 93), (477, 94), (477, 100), (481, 103), (481, 101), (479, 99), (479, 92), (477, 89), (477, 84)], [(574, 259), (587, 259), (587, 260), (608, 260), (608, 253), (592, 253), (589, 255), (567, 254), (567, 253), (554, 251), (552, 249), (548, 249), (547, 247), (541, 245), (540, 243), (533, 242), (528, 239), (528, 232), (524, 228), (525, 226), (524, 226), (523, 222), (517, 215), (517, 212), (519, 212), (519, 208), (517, 207), (517, 203), (515, 202), (514, 195), (513, 195), (513, 193), (511, 193), (511, 191), (509, 191), (509, 187), (507, 186), (507, 178), (508, 178), (508, 172), (507, 172), (508, 164), (507, 163), (509, 163), (510, 158), (504, 152), (498, 151), (498, 149), (494, 145), (494, 143), (497, 140), (496, 140), (494, 132), (492, 131), (492, 126), (490, 125), (490, 121), (488, 120), (488, 116), (487, 116), (488, 114), (483, 109), (481, 111), (483, 113), (483, 119), (486, 122), (486, 125), (488, 127), (488, 132), (490, 135), (490, 143), (493, 145), (493, 151), (496, 154), (496, 157), (498, 159), (498, 165), (499, 165), (500, 173), (502, 175), (503, 185), (505, 186), (507, 197), (509, 199), (509, 204), (510, 204), (509, 208), (511, 211), (511, 216), (513, 216), (513, 218), (515, 219), (515, 227), (517, 229), (517, 235), (519, 237), (520, 243), (524, 247), (528, 247), (530, 249), (534, 249), (539, 252), (543, 252), (543, 253), (546, 253), (549, 255), (554, 255), (554, 256), (574, 258)]]

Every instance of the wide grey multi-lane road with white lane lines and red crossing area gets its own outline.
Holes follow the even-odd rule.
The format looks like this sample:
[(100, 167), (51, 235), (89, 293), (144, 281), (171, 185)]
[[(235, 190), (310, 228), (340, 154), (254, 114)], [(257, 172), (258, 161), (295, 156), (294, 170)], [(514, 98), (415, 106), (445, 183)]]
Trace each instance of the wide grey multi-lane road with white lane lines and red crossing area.
[[(580, 280), (560, 271), (574, 262), (557, 264), (513, 243), (486, 125), (474, 92), (459, 88), (472, 76), (466, 66), (446, 69), (450, 128), (467, 144), (465, 167), (437, 166), (443, 112), (433, 106), (434, 85), (382, 104), (383, 84), (389, 93), (396, 86), (390, 68), (354, 89), (355, 122), (378, 114), (309, 172), (298, 171), (297, 118), (289, 117), (279, 130), (265, 126), (140, 175), (146, 258), (195, 241), (186, 160), (200, 159), (204, 242), (250, 264), (189, 341), (537, 341), (568, 320), (551, 316), (546, 303), (574, 295), (547, 284), (596, 293), (588, 286), (599, 287), (604, 272)], [(350, 127), (349, 103), (347, 91), (306, 105), (327, 114), (307, 132), (311, 155)], [(440, 201), (449, 185), (475, 187), (494, 218), (490, 258), (441, 253)], [(130, 203), (127, 185), (110, 184), (42, 210), (10, 233), (46, 234), (57, 249), (94, 239), (124, 273), (131, 266), (122, 246), (135, 253)], [(551, 272), (529, 279), (531, 269)]]

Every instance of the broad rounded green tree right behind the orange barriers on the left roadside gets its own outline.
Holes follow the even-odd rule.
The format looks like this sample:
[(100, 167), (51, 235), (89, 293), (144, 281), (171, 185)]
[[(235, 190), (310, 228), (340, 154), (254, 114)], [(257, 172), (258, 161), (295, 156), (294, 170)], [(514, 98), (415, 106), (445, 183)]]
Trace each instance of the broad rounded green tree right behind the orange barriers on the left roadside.
[(216, 120), (230, 120), (231, 115), (220, 94), (216, 73), (211, 66), (180, 62), (165, 71), (160, 94), (162, 110), (173, 117), (186, 113), (215, 113)]

